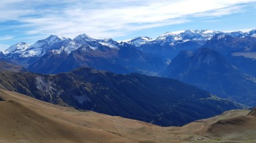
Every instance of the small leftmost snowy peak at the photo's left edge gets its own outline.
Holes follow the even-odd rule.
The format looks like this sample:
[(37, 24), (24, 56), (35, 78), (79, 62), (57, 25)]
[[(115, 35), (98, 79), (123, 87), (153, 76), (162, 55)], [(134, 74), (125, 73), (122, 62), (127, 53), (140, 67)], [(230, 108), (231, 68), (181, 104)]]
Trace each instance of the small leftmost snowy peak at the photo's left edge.
[(10, 46), (8, 49), (3, 51), (3, 54), (10, 54), (14, 52), (17, 53), (20, 51), (27, 50), (29, 47), (30, 45), (27, 44), (26, 42), (18, 42), (17, 44)]

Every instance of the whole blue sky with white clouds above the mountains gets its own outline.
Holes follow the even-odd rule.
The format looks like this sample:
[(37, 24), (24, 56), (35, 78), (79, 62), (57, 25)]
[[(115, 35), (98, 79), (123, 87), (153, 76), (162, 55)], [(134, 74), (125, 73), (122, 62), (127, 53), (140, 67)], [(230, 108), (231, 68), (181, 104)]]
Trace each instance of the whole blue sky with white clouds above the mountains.
[(184, 29), (256, 28), (256, 0), (2, 0), (0, 13), (0, 50), (51, 34), (118, 41)]

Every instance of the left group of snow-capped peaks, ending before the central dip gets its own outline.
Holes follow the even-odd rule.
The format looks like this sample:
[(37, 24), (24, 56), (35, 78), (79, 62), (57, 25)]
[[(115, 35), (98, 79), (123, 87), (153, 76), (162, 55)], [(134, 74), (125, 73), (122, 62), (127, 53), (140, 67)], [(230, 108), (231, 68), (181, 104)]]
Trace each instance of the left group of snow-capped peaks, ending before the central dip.
[(91, 49), (95, 50), (97, 49), (97, 44), (108, 46), (113, 49), (118, 49), (119, 45), (118, 42), (115, 42), (111, 38), (96, 40), (86, 34), (80, 34), (73, 40), (68, 37), (51, 35), (44, 40), (35, 42), (33, 45), (27, 44), (26, 42), (19, 42), (3, 51), (3, 54), (7, 55), (7, 57), (42, 57), (47, 51), (52, 51), (56, 54), (64, 51), (65, 53), (70, 54), (72, 51), (79, 49), (82, 45), (88, 45)]

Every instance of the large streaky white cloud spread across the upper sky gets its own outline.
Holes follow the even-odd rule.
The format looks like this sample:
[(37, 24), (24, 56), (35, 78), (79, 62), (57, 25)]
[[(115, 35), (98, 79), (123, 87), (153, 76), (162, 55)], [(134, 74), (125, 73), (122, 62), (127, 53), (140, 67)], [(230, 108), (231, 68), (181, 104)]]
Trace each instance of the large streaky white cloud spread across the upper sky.
[(243, 7), (237, 5), (249, 2), (256, 0), (2, 0), (0, 19), (18, 20), (28, 28), (26, 34), (118, 37), (145, 28), (186, 23), (191, 16), (241, 12)]

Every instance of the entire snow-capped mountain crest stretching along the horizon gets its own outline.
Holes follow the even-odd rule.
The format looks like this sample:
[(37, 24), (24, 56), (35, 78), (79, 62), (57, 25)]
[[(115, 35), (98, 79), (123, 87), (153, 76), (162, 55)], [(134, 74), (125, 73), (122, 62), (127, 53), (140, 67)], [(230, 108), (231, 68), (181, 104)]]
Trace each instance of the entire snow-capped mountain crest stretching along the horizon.
[(49, 36), (44, 40), (39, 40), (35, 44), (30, 45), (26, 42), (19, 42), (18, 44), (12, 45), (9, 49), (3, 51), (3, 54), (7, 57), (42, 57), (47, 51), (54, 51), (55, 53), (71, 53), (74, 50), (77, 50), (82, 45), (88, 45), (91, 49), (96, 50), (98, 45), (108, 46), (110, 48), (118, 49), (118, 46), (125, 42), (134, 46), (142, 46), (148, 44), (159, 44), (159, 45), (170, 45), (175, 46), (177, 44), (182, 44), (187, 41), (200, 41), (205, 42), (210, 40), (215, 34), (220, 34), (220, 37), (223, 37), (225, 34), (228, 34), (232, 37), (245, 37), (251, 36), (256, 37), (256, 29), (250, 32), (231, 32), (224, 33), (219, 31), (209, 31), (209, 30), (185, 30), (177, 32), (167, 32), (161, 36), (153, 39), (150, 37), (136, 37), (131, 40), (125, 41), (114, 41), (112, 39), (97, 40), (92, 37), (87, 36), (86, 34), (80, 34), (75, 37), (73, 40), (68, 37), (60, 36)]

